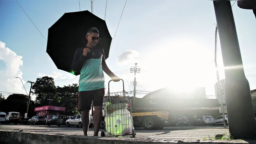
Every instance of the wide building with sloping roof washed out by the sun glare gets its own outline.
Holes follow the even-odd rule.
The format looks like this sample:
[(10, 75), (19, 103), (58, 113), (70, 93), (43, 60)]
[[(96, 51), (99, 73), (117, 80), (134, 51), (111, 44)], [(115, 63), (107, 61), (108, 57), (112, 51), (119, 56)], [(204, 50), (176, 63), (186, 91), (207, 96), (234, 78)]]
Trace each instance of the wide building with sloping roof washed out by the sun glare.
[(162, 89), (158, 89), (156, 91), (150, 92), (147, 95), (145, 95), (142, 98), (162, 98), (162, 99), (168, 99), (168, 98), (206, 98), (205, 94), (205, 88), (204, 87), (193, 87), (190, 89), (183, 89), (178, 90), (171, 87), (165, 87)]

